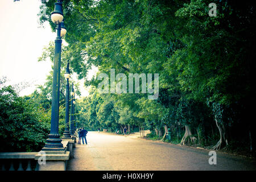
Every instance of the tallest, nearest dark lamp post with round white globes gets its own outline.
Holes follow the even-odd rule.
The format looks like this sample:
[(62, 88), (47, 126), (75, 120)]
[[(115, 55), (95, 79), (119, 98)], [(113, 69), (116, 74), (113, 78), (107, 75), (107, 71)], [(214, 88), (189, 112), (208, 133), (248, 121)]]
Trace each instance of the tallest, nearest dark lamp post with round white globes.
[(53, 65), (53, 84), (52, 84), (52, 113), (51, 113), (51, 131), (46, 140), (43, 151), (61, 151), (64, 150), (59, 135), (59, 100), (60, 100), (60, 58), (61, 58), (61, 35), (65, 35), (64, 28), (61, 28), (63, 21), (62, 1), (55, 3), (55, 9), (51, 13), (52, 22), (57, 24), (57, 37), (55, 40), (55, 55)]

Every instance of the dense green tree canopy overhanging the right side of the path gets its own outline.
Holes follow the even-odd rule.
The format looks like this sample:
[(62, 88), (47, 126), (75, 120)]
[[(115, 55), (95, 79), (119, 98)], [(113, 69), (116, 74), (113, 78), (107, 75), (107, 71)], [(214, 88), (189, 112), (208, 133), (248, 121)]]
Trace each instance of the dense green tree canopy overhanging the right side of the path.
[[(53, 30), (49, 17), (54, 2), (42, 0), (40, 14)], [(216, 17), (208, 15), (212, 2)], [(146, 125), (151, 131), (167, 125), (175, 141), (190, 125), (200, 144), (209, 144), (216, 141), (209, 131), (218, 134), (217, 119), (232, 131), (230, 139), (239, 129), (248, 135), (246, 126), (254, 125), (246, 118), (255, 102), (254, 5), (227, 0), (65, 0), (63, 9), (68, 42), (63, 56), (79, 78), (92, 65), (98, 74), (109, 75), (110, 68), (126, 76), (159, 73), (157, 100), (147, 100), (146, 94), (99, 94), (97, 79), (85, 80), (92, 90), (80, 102), (81, 123), (92, 128)], [(46, 57), (52, 57), (52, 44), (40, 60)]]

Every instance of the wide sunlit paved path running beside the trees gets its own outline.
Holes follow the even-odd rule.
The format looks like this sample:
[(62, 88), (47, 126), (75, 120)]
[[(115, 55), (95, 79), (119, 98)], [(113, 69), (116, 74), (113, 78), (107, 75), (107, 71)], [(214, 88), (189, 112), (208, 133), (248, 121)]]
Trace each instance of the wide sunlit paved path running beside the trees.
[(217, 152), (217, 164), (210, 165), (209, 151), (89, 131), (88, 144), (78, 145), (69, 171), (170, 171), (170, 170), (256, 170), (253, 159)]

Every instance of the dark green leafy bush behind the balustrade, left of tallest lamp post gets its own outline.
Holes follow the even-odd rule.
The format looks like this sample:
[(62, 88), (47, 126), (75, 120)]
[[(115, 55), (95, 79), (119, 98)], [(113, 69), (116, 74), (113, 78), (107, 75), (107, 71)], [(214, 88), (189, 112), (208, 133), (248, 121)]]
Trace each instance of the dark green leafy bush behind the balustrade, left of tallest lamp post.
[[(3, 82), (2, 82), (3, 83)], [(49, 115), (13, 86), (0, 87), (0, 152), (39, 151), (49, 134)]]

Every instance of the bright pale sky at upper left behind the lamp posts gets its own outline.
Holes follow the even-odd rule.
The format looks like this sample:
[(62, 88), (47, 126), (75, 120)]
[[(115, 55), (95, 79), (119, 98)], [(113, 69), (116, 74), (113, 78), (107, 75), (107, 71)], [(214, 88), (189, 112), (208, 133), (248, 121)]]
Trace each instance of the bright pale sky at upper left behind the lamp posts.
[[(34, 92), (51, 71), (51, 61), (38, 62), (38, 57), (55, 40), (56, 32), (47, 22), (39, 27), (39, 6), (39, 0), (0, 0), (0, 77), (6, 76), (11, 85), (29, 82), (31, 86), (20, 96)], [(88, 96), (82, 81), (80, 85), (82, 96)]]

